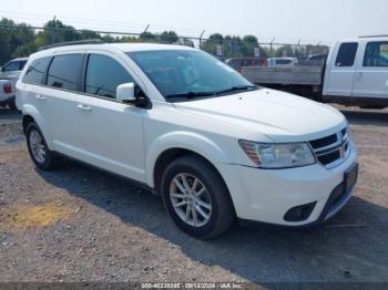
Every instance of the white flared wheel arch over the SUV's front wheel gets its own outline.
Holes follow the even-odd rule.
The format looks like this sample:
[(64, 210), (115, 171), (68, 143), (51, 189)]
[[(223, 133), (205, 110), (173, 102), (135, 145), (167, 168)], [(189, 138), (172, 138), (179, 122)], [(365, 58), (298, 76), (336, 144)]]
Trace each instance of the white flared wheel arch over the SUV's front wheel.
[(154, 187), (154, 168), (161, 154), (167, 149), (182, 148), (192, 151), (214, 166), (218, 162), (226, 162), (225, 152), (210, 138), (192, 132), (173, 132), (156, 138), (149, 147), (146, 154), (146, 183)]

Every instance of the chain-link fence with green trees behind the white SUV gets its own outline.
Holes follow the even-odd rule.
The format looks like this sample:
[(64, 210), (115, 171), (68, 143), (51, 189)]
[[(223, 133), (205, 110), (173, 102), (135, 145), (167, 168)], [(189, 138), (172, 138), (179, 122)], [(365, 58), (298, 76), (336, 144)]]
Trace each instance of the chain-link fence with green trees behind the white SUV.
[[(50, 22), (49, 22), (50, 23)], [(101, 39), (103, 42), (153, 42), (174, 43), (200, 48), (222, 60), (232, 58), (274, 58), (293, 56), (298, 60), (309, 54), (328, 53), (326, 45), (300, 43), (259, 42), (259, 38), (247, 35), (223, 37), (213, 34), (210, 39), (201, 37), (176, 35), (173, 31), (163, 33), (125, 33), (115, 31), (76, 30), (67, 27), (60, 21), (51, 22), (53, 25), (29, 27), (25, 24), (0, 24), (0, 65), (9, 60), (29, 56), (43, 45), (65, 41)]]

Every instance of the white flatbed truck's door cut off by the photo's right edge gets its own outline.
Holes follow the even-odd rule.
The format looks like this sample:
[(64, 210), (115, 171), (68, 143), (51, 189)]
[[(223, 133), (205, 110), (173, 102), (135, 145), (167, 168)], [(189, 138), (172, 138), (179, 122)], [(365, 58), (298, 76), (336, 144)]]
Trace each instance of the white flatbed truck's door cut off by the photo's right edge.
[(388, 97), (388, 41), (368, 41), (361, 52), (353, 95)]

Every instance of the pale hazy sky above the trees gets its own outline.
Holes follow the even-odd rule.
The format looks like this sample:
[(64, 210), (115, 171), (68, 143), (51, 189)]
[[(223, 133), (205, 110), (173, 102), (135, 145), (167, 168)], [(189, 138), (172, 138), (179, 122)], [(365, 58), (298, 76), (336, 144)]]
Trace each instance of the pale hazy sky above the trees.
[(12, 0), (0, 17), (42, 25), (119, 32), (174, 30), (178, 35), (254, 34), (259, 42), (324, 43), (388, 34), (388, 0)]

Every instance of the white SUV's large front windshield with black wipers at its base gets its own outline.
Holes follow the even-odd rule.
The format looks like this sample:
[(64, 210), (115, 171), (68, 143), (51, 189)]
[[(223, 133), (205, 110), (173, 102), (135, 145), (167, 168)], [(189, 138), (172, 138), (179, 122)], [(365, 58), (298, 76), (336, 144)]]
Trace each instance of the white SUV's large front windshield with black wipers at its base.
[(235, 70), (202, 51), (139, 51), (127, 55), (169, 101), (257, 89)]

